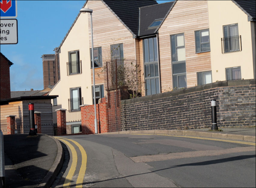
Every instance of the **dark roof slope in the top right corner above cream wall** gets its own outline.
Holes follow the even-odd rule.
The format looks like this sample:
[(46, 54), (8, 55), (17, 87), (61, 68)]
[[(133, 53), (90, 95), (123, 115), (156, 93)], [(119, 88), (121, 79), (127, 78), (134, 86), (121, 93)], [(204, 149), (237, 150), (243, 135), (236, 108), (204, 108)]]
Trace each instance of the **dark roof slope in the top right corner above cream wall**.
[(233, 1), (248, 16), (248, 21), (255, 22), (256, 1)]

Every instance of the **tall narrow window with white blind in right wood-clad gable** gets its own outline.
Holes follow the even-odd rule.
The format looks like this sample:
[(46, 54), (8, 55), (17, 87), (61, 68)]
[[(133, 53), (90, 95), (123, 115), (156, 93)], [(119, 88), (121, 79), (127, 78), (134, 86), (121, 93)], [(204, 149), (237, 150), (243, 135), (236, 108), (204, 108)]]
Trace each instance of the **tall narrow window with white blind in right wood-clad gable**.
[(173, 88), (187, 87), (184, 33), (171, 35)]

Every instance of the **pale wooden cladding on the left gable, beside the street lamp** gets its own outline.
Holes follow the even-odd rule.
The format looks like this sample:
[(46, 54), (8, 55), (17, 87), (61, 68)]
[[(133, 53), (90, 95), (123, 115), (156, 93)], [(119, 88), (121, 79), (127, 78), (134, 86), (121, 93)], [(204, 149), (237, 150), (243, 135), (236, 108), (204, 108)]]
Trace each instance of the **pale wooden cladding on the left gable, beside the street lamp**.
[[(88, 1), (87, 6), (88, 8), (93, 9), (93, 47), (102, 48), (103, 65), (105, 62), (111, 60), (110, 45), (113, 44), (123, 43), (124, 59), (136, 59), (135, 39), (133, 39), (132, 33), (117, 19), (113, 13), (110, 12), (102, 1)], [(88, 16), (88, 22), (89, 40), (91, 46), (90, 16)], [(100, 74), (100, 76), (98, 76), (98, 74)], [(95, 69), (95, 83), (96, 85), (106, 83), (104, 82), (102, 68)]]

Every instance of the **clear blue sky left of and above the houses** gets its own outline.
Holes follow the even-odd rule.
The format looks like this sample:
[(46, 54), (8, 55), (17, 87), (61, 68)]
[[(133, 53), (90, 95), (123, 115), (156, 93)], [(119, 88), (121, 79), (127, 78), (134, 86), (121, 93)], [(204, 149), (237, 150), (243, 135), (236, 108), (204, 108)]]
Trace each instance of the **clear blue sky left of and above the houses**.
[[(168, 1), (157, 1), (158, 3)], [(1, 45), (10, 67), (11, 91), (44, 89), (43, 54), (54, 54), (84, 1), (17, 1), (18, 44)]]

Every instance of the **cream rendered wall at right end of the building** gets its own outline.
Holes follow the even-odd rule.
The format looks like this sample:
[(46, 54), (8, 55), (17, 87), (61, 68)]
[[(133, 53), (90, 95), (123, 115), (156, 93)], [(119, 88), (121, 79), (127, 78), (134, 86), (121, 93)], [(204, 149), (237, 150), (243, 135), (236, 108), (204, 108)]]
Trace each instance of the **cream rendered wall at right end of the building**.
[[(241, 66), (243, 79), (253, 78), (251, 23), (248, 16), (232, 1), (208, 1), (212, 62), (212, 82), (226, 80), (225, 68)], [(238, 24), (242, 51), (222, 54), (223, 25)]]

